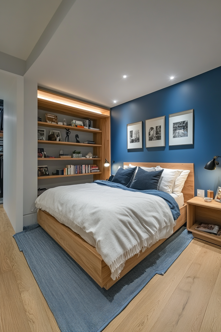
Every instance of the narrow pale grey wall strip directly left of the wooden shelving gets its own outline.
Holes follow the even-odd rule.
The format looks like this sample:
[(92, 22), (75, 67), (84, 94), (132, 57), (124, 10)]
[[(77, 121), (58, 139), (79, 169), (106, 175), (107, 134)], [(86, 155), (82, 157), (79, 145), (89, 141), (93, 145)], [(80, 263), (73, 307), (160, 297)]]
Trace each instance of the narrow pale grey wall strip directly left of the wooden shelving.
[(37, 82), (24, 76), (24, 189), (23, 225), (37, 223)]

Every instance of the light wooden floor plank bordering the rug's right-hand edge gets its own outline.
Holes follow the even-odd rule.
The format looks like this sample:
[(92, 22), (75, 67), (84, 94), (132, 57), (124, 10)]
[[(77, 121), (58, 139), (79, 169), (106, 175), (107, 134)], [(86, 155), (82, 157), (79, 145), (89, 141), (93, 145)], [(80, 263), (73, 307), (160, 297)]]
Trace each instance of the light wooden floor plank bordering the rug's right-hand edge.
[[(153, 287), (149, 283), (110, 324), (105, 332), (151, 331), (166, 302), (201, 250), (204, 241), (193, 239), (164, 276)], [(139, 301), (138, 301), (139, 299)], [(127, 315), (125, 315), (127, 313)]]

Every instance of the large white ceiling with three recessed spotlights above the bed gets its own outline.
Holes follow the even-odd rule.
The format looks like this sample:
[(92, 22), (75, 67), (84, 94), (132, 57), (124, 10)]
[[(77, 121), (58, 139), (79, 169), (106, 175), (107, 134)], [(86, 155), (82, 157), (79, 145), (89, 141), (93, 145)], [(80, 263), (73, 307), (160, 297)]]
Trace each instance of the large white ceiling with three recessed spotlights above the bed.
[(220, 14), (220, 0), (77, 0), (26, 75), (112, 107), (220, 66)]

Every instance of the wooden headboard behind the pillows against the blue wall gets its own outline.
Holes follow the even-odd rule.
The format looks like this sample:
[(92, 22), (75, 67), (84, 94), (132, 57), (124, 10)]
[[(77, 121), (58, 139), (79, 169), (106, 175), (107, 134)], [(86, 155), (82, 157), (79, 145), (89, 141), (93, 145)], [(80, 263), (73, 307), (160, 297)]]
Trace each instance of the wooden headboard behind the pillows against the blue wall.
[(143, 166), (143, 167), (156, 167), (160, 166), (162, 168), (171, 168), (171, 169), (183, 169), (190, 170), (187, 180), (184, 184), (182, 193), (184, 195), (184, 203), (186, 204), (188, 200), (194, 197), (194, 164), (180, 164), (180, 163), (135, 163), (129, 162), (124, 163), (124, 165), (129, 166), (132, 164), (134, 166)]

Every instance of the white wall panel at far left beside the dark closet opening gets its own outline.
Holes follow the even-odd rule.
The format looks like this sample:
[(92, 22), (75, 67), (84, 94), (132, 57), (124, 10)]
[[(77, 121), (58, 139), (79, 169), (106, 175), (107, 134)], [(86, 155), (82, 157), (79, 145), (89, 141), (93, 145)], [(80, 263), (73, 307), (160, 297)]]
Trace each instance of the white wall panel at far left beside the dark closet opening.
[(16, 233), (23, 230), (24, 78), (0, 70), (4, 100), (3, 205)]

